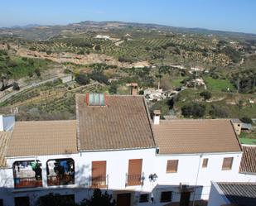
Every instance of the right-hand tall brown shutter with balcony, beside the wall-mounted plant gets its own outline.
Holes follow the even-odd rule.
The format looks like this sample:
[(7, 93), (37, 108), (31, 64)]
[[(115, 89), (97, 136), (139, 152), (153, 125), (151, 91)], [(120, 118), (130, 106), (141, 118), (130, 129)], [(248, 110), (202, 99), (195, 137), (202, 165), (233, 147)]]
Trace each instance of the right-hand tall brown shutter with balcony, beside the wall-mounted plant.
[(128, 165), (128, 185), (141, 184), (142, 159), (129, 160)]

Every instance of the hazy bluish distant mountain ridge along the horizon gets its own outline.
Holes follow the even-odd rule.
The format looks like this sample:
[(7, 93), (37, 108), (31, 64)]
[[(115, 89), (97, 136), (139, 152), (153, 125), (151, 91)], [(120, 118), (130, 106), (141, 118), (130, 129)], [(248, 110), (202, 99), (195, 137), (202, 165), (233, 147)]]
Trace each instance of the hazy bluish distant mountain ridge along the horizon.
[[(21, 36), (27, 39), (36, 40), (46, 40), (52, 36), (59, 35), (63, 30), (100, 30), (100, 29), (114, 29), (114, 28), (127, 28), (134, 27), (138, 29), (156, 29), (161, 31), (171, 31), (175, 33), (184, 34), (203, 34), (203, 35), (215, 35), (215, 36), (229, 36), (233, 38), (243, 38), (243, 39), (256, 39), (256, 34), (249, 34), (243, 32), (233, 32), (233, 31), (215, 31), (204, 28), (186, 28), (178, 26), (166, 26), (158, 24), (147, 24), (147, 23), (137, 23), (137, 22), (93, 22), (85, 21), (72, 23), (65, 26), (43, 26), (38, 24), (29, 24), (26, 26), (12, 26), (9, 28), (0, 28), (0, 35), (4, 31), (9, 31), (13, 35)], [(40, 32), (38, 32), (40, 29)], [(1, 32), (2, 31), (2, 32)]]

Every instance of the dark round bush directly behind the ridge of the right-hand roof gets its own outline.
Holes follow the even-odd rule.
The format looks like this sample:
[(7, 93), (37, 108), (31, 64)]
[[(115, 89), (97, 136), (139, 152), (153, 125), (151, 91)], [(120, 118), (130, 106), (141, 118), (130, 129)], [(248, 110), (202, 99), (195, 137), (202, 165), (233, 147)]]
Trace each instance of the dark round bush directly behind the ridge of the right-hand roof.
[(205, 105), (199, 103), (190, 103), (181, 108), (184, 117), (204, 117)]

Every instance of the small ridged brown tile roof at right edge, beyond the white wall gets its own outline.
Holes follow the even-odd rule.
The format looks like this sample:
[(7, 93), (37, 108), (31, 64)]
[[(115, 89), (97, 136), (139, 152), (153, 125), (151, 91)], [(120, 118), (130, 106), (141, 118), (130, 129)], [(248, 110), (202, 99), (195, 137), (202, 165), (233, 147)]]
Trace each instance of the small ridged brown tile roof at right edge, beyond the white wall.
[(256, 174), (256, 146), (243, 146), (239, 172)]

